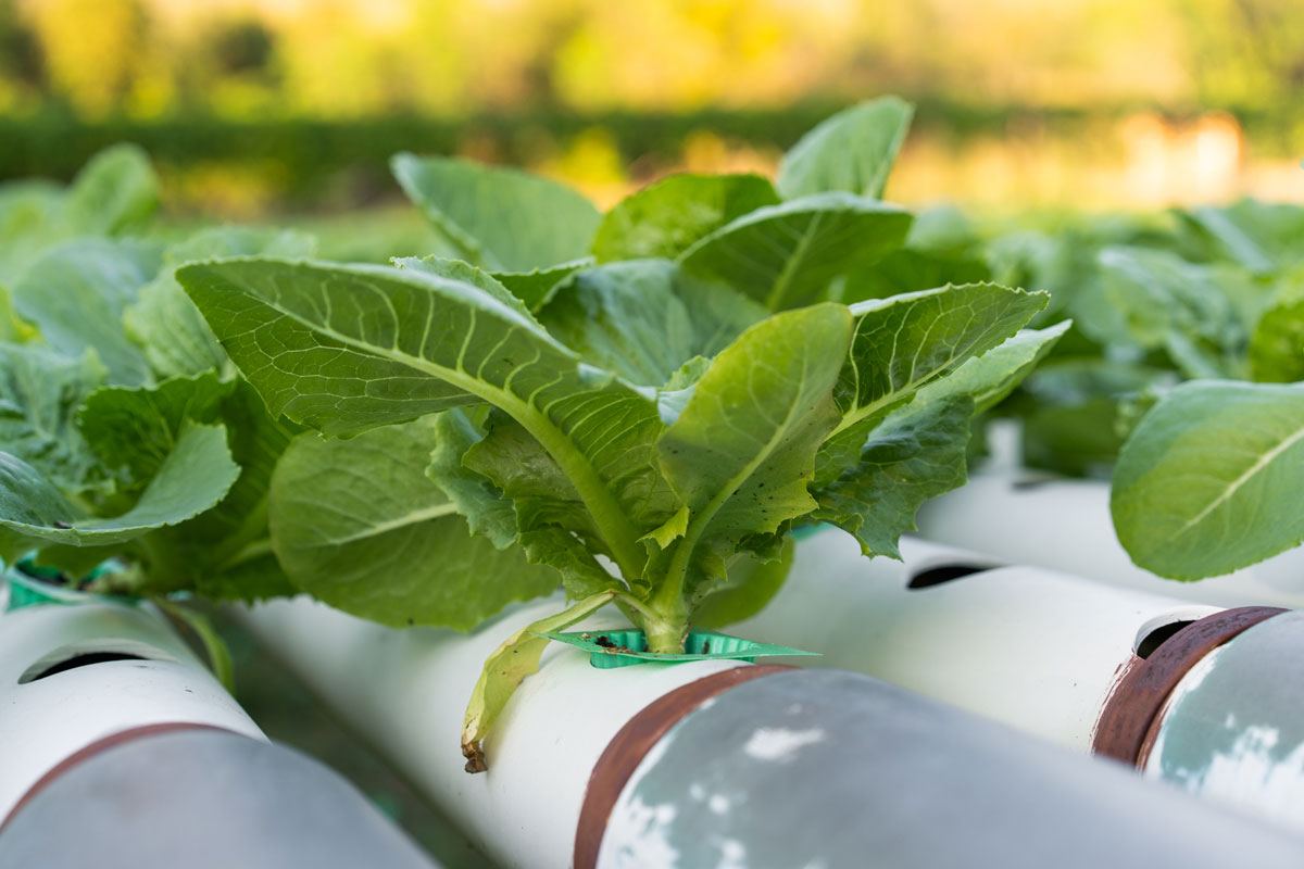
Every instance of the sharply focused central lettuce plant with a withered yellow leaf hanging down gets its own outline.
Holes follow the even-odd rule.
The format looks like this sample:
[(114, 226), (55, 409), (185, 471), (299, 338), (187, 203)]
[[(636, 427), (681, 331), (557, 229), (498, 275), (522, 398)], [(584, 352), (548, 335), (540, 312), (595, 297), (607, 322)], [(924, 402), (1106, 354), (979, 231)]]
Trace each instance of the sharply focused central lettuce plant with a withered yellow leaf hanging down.
[(970, 417), (1058, 332), (1009, 340), (1045, 296), (994, 284), (840, 301), (909, 229), (876, 198), (908, 119), (868, 103), (798, 143), (777, 188), (677, 176), (606, 215), (514, 169), (400, 155), (447, 255), (179, 270), (269, 412), (319, 433), (273, 481), (297, 585), (455, 627), (565, 586), (485, 664), (468, 770), (539, 632), (614, 605), (682, 651), (699, 612), (764, 603), (794, 525), (896, 556), (919, 503), (964, 482)]

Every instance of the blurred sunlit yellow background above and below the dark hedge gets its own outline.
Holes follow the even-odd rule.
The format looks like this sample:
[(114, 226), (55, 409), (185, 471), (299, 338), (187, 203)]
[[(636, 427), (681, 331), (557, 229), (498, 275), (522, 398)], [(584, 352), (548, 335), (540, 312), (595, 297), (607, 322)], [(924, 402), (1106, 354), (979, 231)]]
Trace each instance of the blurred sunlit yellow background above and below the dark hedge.
[[(365, 122), (898, 93), (943, 119), (1101, 119), (958, 143), (935, 125), (908, 147), (905, 199), (1291, 198), (1304, 195), (1290, 171), (1304, 150), (1301, 1), (0, 0), (0, 113)], [(631, 181), (600, 130), (567, 149), (545, 169), (610, 195)], [(703, 139), (685, 163), (707, 152), (726, 168), (775, 158)]]

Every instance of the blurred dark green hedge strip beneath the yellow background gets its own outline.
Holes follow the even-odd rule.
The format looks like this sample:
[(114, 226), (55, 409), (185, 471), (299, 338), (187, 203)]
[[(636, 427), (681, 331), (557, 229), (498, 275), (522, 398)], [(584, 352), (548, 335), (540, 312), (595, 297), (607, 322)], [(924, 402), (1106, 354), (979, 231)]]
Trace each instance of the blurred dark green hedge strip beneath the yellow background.
[[(919, 100), (915, 134), (960, 146), (978, 134), (1021, 135), (1026, 130), (1090, 135), (1137, 107), (1107, 111), (982, 107)], [(163, 120), (112, 119), (86, 122), (48, 112), (0, 117), (0, 181), (21, 177), (70, 178), (91, 154), (113, 142), (136, 142), (164, 171), (196, 165), (256, 165), (270, 197), (286, 208), (365, 205), (396, 188), (387, 160), (395, 151), (451, 154), (532, 165), (565, 149), (576, 135), (599, 128), (635, 177), (678, 163), (691, 134), (711, 132), (752, 147), (789, 147), (820, 119), (841, 108), (801, 103), (784, 109), (708, 109), (685, 115), (612, 112), (572, 115), (532, 111), (463, 120), (385, 116), (368, 120), (273, 119), (232, 121), (215, 117)], [(1283, 141), (1283, 119), (1240, 116), (1253, 139)], [(1277, 150), (1269, 147), (1267, 150)]]

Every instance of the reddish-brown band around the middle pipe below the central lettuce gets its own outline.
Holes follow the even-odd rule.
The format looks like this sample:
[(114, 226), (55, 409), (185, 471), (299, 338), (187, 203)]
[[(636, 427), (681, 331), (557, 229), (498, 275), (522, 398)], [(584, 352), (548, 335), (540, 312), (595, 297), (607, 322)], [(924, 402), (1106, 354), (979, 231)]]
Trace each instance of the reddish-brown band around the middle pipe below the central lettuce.
[(597, 765), (593, 766), (593, 774), (588, 778), (579, 826), (575, 827), (572, 869), (593, 869), (597, 865), (597, 849), (602, 844), (602, 835), (606, 833), (606, 822), (612, 817), (612, 809), (615, 808), (615, 800), (619, 799), (621, 791), (644, 756), (679, 719), (734, 685), (789, 670), (794, 667), (758, 664), (721, 670), (687, 685), (679, 685), (627, 720), (606, 744), (602, 756), (597, 758)]

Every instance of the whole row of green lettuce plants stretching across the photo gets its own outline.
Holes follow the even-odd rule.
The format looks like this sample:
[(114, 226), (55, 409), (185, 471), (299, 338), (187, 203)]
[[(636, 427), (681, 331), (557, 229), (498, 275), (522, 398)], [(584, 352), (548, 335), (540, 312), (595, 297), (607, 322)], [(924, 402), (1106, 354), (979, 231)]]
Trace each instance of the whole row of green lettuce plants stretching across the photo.
[(1301, 210), (913, 215), (880, 198), (910, 120), (871, 100), (773, 180), (670, 176), (605, 214), (398, 154), (436, 249), (390, 264), (293, 231), (164, 241), (130, 146), (67, 188), (7, 185), (0, 558), (398, 627), (565, 589), (485, 664), (477, 770), (539, 634), (614, 606), (679, 653), (765, 606), (803, 524), (898, 556), (990, 414), (1033, 460), (1112, 468), (1120, 537), (1161, 573), (1299, 543)]

